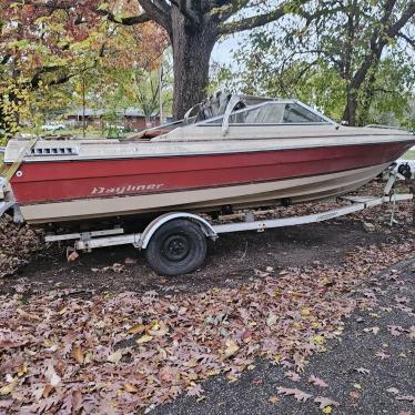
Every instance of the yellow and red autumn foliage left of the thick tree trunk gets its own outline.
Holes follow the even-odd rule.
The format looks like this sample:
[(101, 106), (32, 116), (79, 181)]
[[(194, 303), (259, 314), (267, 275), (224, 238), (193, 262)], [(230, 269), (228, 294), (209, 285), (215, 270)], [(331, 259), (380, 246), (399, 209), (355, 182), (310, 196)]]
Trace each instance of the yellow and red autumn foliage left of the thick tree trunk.
[(99, 83), (110, 70), (156, 65), (164, 31), (154, 23), (140, 29), (103, 21), (87, 1), (68, 9), (64, 1), (0, 0), (0, 130), (13, 134), (39, 104), (45, 110), (40, 101), (50, 89), (82, 73), (95, 71)]

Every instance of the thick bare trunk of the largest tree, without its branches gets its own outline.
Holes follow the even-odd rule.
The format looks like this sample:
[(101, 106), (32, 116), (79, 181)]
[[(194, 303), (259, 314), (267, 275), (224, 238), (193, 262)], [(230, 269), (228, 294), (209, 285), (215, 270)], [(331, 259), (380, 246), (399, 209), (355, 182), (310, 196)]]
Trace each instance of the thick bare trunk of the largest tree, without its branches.
[(190, 26), (183, 14), (172, 10), (171, 41), (174, 57), (173, 118), (180, 120), (185, 112), (202, 101), (209, 84), (209, 62), (216, 42), (216, 30), (206, 18)]

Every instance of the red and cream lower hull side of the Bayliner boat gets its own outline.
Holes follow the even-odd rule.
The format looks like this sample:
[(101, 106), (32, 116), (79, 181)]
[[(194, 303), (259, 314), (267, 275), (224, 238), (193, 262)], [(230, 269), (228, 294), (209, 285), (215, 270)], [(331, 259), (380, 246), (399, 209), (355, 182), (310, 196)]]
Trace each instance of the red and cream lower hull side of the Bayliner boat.
[(11, 181), (29, 223), (344, 194), (381, 173), (411, 141), (176, 156), (24, 161)]

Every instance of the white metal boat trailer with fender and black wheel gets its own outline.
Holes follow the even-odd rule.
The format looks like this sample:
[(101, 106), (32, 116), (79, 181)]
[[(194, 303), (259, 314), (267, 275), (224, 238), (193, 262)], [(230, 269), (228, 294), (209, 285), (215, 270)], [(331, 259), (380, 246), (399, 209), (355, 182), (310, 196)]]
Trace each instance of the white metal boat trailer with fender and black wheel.
[(240, 222), (212, 224), (208, 219), (199, 214), (172, 212), (158, 216), (141, 233), (124, 234), (122, 227), (114, 227), (103, 231), (47, 235), (45, 241), (74, 241), (72, 252), (91, 252), (97, 247), (132, 244), (139, 250), (145, 250), (148, 262), (159, 274), (185, 274), (195, 271), (202, 265), (206, 255), (206, 239), (214, 241), (222, 233), (243, 231), (264, 232), (267, 229), (323, 222), (385, 203), (393, 204), (391, 214), (391, 225), (393, 225), (395, 223), (394, 213), (396, 202), (414, 200), (414, 186), (411, 186), (412, 193), (398, 194), (394, 192), (393, 188), (397, 178), (399, 178), (398, 173), (391, 174), (385, 185), (384, 194), (379, 198), (341, 196), (338, 200), (347, 202), (347, 205), (315, 214), (257, 220), (255, 216), (273, 211), (249, 211), (221, 216), (221, 220), (230, 220), (237, 216), (242, 219)]

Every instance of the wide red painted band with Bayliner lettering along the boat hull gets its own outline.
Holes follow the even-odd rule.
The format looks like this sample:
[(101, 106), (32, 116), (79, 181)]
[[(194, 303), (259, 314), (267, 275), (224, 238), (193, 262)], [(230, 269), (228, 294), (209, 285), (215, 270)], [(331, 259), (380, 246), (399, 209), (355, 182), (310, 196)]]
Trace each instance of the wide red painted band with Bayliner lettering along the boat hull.
[[(21, 204), (264, 182), (392, 162), (411, 143), (255, 153), (24, 163), (11, 181)], [(161, 185), (151, 189), (151, 185)], [(130, 185), (130, 188), (128, 188)], [(131, 186), (148, 186), (134, 189)], [(92, 194), (93, 189), (99, 189)], [(118, 188), (108, 193), (101, 189)]]

